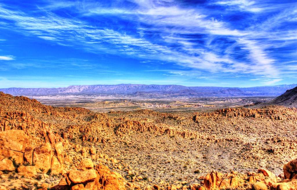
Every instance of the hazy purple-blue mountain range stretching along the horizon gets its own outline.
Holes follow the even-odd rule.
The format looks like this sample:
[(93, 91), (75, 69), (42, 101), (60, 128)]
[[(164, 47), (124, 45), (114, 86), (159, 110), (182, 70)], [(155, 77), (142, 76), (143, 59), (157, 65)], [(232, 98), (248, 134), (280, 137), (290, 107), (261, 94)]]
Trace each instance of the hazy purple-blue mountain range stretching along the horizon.
[(56, 94), (125, 94), (132, 96), (279, 96), (297, 84), (229, 88), (182, 85), (72, 85), (64, 88), (1, 88), (0, 91), (15, 96)]

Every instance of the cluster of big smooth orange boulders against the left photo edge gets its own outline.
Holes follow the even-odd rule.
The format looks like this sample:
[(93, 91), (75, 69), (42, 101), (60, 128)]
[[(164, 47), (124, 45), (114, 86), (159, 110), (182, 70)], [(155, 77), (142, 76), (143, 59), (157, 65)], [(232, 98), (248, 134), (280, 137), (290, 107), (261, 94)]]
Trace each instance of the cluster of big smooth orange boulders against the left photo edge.
[[(64, 164), (63, 144), (42, 143), (32, 147), (29, 136), (23, 130), (0, 132), (0, 171), (14, 171), (25, 177), (33, 177), (37, 170), (61, 174)], [(22, 165), (26, 164), (26, 165)]]

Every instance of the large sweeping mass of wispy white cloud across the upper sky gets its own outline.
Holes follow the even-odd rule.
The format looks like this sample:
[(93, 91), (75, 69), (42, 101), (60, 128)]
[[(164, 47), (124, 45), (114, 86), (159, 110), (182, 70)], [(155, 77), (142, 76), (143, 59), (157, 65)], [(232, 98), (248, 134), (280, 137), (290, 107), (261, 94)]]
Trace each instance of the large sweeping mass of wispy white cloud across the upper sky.
[[(211, 15), (197, 6), (179, 6), (173, 1), (131, 2), (134, 4), (130, 6), (123, 6), (121, 1), (106, 6), (101, 2), (52, 1), (39, 7), (35, 16), (1, 6), (0, 17), (9, 20), (7, 24), (15, 30), (58, 45), (80, 47), (92, 53), (169, 61), (193, 69), (193, 73), (204, 70), (251, 74), (279, 82), (282, 73), (279, 70), (289, 68), (276, 66), (279, 60), (272, 55), (271, 48), (287, 47), (297, 40), (294, 28), (276, 30), (283, 20), (293, 22), (297, 18), (294, 11), (284, 10), (266, 21), (236, 28), (222, 15)], [(267, 4), (257, 1), (228, 0), (214, 4), (253, 14), (270, 10)], [(65, 8), (70, 12), (75, 10), (79, 16), (64, 17), (52, 12)], [(98, 16), (126, 20), (134, 24), (133, 30), (137, 33), (126, 31), (123, 26), (101, 26), (83, 19)], [(170, 74), (182, 73), (173, 71)]]

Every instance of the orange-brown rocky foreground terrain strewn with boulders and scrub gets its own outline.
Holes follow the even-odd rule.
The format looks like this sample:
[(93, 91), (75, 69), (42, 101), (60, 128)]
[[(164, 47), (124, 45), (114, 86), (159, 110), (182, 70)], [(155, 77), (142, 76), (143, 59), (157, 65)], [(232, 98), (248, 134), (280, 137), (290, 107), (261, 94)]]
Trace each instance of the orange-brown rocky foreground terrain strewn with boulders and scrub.
[(297, 109), (95, 113), (0, 93), (0, 190), (297, 189)]

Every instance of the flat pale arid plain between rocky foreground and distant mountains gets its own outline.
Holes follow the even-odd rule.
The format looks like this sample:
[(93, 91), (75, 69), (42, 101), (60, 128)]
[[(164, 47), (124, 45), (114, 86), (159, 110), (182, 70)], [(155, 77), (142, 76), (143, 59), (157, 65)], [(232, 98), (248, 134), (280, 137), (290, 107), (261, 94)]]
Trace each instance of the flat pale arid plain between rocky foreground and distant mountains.
[(275, 96), (252, 97), (139, 97), (131, 95), (39, 95), (28, 96), (42, 104), (62, 107), (84, 107), (94, 112), (149, 109), (159, 112), (213, 111), (226, 107), (243, 107), (268, 102)]

